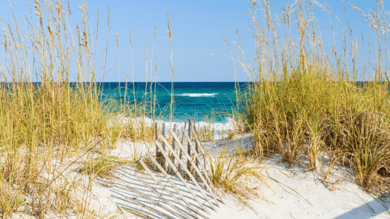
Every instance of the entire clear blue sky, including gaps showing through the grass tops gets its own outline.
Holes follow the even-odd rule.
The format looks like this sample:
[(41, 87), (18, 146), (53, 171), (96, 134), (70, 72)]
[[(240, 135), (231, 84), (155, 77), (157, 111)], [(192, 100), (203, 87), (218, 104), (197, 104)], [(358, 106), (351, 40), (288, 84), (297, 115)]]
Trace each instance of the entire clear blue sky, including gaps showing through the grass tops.
[[(10, 16), (8, 0), (0, 0), (0, 16)], [(77, 20), (80, 15), (78, 6), (81, 0), (69, 0), (73, 8), (72, 19)], [(174, 81), (234, 81), (234, 63), (230, 58), (230, 51), (238, 53), (231, 43), (237, 41), (238, 29), (248, 60), (254, 58), (254, 42), (250, 30), (251, 2), (246, 0), (86, 0), (90, 15), (91, 30), (96, 31), (96, 12), (99, 11), (99, 39), (98, 49), (105, 48), (105, 32), (107, 9), (110, 7), (110, 35), (108, 40), (108, 58), (104, 81), (131, 81), (131, 58), (129, 48), (129, 33), (133, 43), (133, 73), (135, 81), (145, 81), (146, 65), (148, 77), (152, 73), (158, 57), (157, 81), (170, 81), (169, 69), (170, 47), (167, 39), (167, 9), (169, 10), (170, 26), (172, 31), (172, 63), (174, 67)], [(282, 3), (292, 4), (293, 0), (270, 0), (275, 9), (281, 11)], [(319, 2), (322, 2), (319, 0)], [(376, 7), (375, 0), (345, 0), (360, 7), (364, 12)], [(16, 0), (21, 11), (28, 9), (27, 1)], [(66, 4), (66, 1), (64, 1)], [(341, 0), (328, 0), (328, 6), (335, 11), (342, 23), (347, 27), (345, 11)], [(390, 7), (385, 0), (385, 9)], [(273, 7), (273, 6), (271, 6)], [(326, 13), (318, 10), (317, 21), (321, 26), (324, 41), (331, 37)], [(373, 37), (372, 28), (366, 19), (347, 5), (349, 21), (356, 35)], [(389, 11), (386, 11), (387, 14)], [(153, 40), (154, 23), (156, 23), (156, 38)], [(338, 28), (339, 30), (340, 28)], [(337, 32), (338, 30), (335, 30)], [(115, 41), (115, 32), (119, 35), (119, 65), (118, 48)], [(226, 45), (223, 36), (230, 43)], [(149, 46), (149, 60), (146, 60), (146, 43)], [(154, 46), (153, 46), (154, 45)], [(153, 54), (152, 54), (152, 48)], [(363, 52), (362, 52), (363, 53)], [(97, 53), (99, 54), (99, 53)], [(103, 53), (97, 55), (97, 65), (103, 62)], [(152, 64), (150, 60), (152, 58)], [(367, 58), (367, 57), (365, 57)], [(152, 67), (152, 71), (151, 71)], [(238, 78), (246, 81), (246, 75), (237, 66)]]

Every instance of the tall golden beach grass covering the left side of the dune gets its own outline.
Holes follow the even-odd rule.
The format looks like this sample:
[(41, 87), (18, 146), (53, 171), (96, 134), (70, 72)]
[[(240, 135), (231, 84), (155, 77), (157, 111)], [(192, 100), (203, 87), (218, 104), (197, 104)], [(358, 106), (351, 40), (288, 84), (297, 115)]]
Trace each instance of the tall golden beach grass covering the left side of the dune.
[[(0, 212), (3, 218), (18, 211), (94, 218), (90, 193), (78, 200), (78, 183), (68, 182), (70, 173), (61, 168), (86, 151), (83, 170), (90, 180), (123, 164), (106, 151), (120, 138), (152, 140), (145, 118), (155, 105), (102, 102), (94, 57), (99, 33), (90, 29), (85, 1), (74, 26), (69, 2), (35, 0), (31, 6), (23, 24), (15, 16), (0, 20)], [(18, 13), (14, 2), (10, 7)]]

